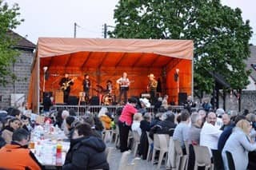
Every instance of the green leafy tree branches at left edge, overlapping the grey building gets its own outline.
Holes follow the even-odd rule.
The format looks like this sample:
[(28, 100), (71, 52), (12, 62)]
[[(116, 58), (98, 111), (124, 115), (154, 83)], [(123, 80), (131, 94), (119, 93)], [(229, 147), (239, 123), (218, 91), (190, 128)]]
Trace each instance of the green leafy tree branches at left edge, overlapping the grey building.
[(18, 40), (13, 38), (11, 31), (23, 22), (19, 19), (18, 4), (10, 7), (0, 0), (0, 84), (6, 85), (8, 77), (15, 78), (10, 71), (10, 65), (18, 56), (18, 50), (14, 49)]

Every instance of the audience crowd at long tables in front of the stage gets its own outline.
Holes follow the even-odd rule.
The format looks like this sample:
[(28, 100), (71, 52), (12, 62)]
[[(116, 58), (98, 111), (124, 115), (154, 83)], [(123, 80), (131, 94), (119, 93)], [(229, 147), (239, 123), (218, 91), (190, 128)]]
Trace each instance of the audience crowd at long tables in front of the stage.
[[(135, 97), (129, 98), (127, 104), (114, 113), (102, 106), (96, 114), (78, 117), (74, 109), (50, 108), (45, 122), (61, 128), (70, 141), (62, 169), (110, 169), (105, 153), (108, 131), (116, 132), (114, 135), (119, 141), (116, 147), (120, 152), (132, 149), (133, 132), (138, 133), (140, 144), (135, 154), (142, 160), (146, 160), (148, 151), (154, 149), (154, 134), (166, 134), (170, 139), (179, 141), (183, 155), (189, 155), (187, 169), (194, 169), (194, 146), (208, 148), (215, 169), (230, 168), (227, 152), (234, 160), (235, 169), (256, 169), (254, 113), (236, 114), (221, 108), (214, 110), (208, 100), (195, 109), (196, 104), (191, 97), (184, 103), (184, 109), (174, 111), (167, 100), (168, 96), (159, 97), (153, 112), (147, 110), (150, 106), (148, 100)], [(0, 168), (43, 168), (28, 148), (30, 132), (37, 122), (31, 121), (23, 111), (8, 109), (0, 112)], [(216, 152), (220, 160), (218, 164), (214, 157)], [(14, 159), (7, 161), (5, 157)], [(174, 168), (174, 165), (169, 168)]]

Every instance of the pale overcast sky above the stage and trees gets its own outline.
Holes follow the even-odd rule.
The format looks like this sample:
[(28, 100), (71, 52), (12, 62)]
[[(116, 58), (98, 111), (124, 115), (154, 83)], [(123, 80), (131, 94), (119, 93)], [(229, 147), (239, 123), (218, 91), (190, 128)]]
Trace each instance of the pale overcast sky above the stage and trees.
[[(74, 37), (74, 22), (78, 23), (77, 38), (103, 38), (102, 25), (114, 26), (114, 8), (118, 0), (4, 0), (17, 2), (21, 10), (22, 25), (15, 30), (31, 42), (38, 37)], [(242, 18), (250, 20), (256, 45), (256, 1), (222, 0), (232, 8), (242, 10)]]

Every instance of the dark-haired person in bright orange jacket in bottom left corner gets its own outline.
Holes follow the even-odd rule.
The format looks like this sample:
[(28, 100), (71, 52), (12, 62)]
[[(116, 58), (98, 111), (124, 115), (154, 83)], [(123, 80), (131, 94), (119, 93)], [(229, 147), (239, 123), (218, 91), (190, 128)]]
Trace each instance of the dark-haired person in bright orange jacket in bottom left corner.
[(30, 133), (23, 128), (14, 131), (11, 144), (0, 149), (0, 169), (42, 169), (41, 164), (27, 147)]

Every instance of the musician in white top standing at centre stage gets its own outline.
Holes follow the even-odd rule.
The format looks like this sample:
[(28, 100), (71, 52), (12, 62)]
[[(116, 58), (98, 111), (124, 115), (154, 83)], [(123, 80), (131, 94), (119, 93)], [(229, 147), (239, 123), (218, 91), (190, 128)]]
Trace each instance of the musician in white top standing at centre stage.
[(127, 92), (129, 90), (129, 86), (130, 86), (130, 81), (129, 81), (128, 77), (127, 77), (127, 73), (126, 72), (122, 73), (122, 77), (120, 77), (117, 80), (117, 83), (118, 83), (119, 89), (120, 89), (118, 103), (121, 102), (122, 95), (123, 95), (123, 97), (124, 97), (124, 101), (123, 102), (126, 104), (126, 102), (127, 102)]

